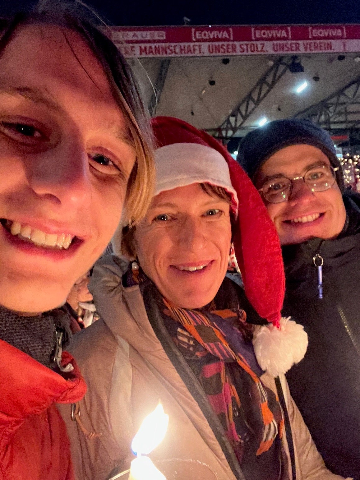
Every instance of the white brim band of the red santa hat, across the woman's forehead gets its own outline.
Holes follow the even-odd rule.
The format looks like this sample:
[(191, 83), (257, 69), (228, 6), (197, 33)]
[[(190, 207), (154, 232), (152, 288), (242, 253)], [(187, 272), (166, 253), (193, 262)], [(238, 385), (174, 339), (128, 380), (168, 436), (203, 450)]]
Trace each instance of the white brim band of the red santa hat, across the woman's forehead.
[(165, 145), (155, 151), (155, 195), (192, 183), (210, 183), (230, 193), (234, 207), (238, 196), (231, 184), (228, 164), (214, 148), (192, 143)]

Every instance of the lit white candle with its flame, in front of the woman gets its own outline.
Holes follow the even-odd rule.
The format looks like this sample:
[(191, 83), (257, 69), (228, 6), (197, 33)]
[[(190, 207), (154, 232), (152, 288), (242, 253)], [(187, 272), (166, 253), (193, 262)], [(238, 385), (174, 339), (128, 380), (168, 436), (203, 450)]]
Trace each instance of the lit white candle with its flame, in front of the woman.
[(169, 417), (164, 413), (161, 403), (143, 420), (131, 444), (132, 451), (137, 457), (131, 462), (129, 480), (166, 480), (151, 459), (145, 455), (163, 441), (168, 421)]

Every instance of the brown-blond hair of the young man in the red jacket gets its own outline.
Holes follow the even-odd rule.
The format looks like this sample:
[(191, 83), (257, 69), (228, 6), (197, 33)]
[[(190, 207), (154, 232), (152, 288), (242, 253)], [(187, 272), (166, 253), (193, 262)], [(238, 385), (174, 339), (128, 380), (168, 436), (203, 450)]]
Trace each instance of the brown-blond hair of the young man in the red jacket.
[(73, 12), (17, 13), (0, 25), (0, 55), (18, 32), (29, 24), (48, 24), (79, 34), (99, 60), (108, 78), (115, 100), (128, 124), (130, 142), (136, 153), (125, 198), (127, 221), (140, 221), (151, 202), (155, 185), (153, 141), (148, 114), (134, 74), (116, 45), (96, 26), (76, 18)]

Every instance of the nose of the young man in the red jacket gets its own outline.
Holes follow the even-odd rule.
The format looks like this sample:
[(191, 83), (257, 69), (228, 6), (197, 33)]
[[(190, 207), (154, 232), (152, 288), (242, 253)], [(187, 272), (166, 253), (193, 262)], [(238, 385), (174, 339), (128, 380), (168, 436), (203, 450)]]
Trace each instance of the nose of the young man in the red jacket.
[(91, 198), (89, 160), (80, 138), (63, 140), (27, 164), (32, 190), (66, 208), (86, 207)]

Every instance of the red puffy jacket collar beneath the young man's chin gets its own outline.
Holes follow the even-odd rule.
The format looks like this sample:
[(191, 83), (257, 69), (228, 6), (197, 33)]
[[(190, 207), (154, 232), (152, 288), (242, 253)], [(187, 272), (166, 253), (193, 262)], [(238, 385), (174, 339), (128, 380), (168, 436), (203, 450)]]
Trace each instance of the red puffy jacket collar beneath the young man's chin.
[(84, 396), (86, 384), (69, 353), (63, 353), (62, 364), (71, 362), (74, 369), (62, 376), (3, 340), (0, 351), (0, 412), (5, 423), (39, 414), (53, 403), (78, 402)]

